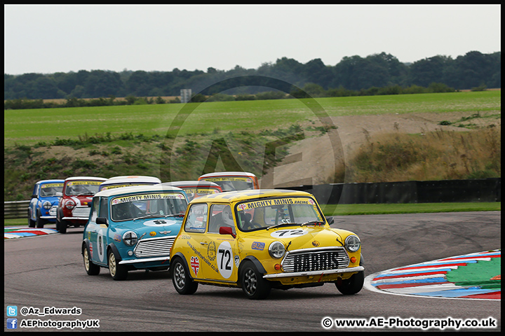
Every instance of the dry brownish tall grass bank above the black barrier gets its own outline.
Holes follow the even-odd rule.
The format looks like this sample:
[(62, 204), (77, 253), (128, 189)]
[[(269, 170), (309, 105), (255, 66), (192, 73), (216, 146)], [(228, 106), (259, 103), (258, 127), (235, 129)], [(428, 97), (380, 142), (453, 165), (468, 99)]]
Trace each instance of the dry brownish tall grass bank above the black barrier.
[(393, 132), (367, 138), (349, 160), (349, 182), (487, 179), (501, 176), (501, 128), (421, 134)]

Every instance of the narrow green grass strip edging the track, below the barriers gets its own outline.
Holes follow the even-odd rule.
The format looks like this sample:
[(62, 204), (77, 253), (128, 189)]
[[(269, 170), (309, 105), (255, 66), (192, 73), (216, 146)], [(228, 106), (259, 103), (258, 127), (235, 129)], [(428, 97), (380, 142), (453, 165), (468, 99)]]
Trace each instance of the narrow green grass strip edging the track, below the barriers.
[[(501, 202), (418, 204), (326, 204), (325, 216), (423, 214), (432, 212), (501, 211)], [(27, 218), (4, 219), (4, 226), (28, 226)]]

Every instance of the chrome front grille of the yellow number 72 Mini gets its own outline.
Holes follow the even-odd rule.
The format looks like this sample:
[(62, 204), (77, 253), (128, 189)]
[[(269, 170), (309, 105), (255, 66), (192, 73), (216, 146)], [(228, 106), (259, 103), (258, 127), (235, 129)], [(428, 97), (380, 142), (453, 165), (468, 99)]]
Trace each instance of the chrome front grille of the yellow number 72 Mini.
[(349, 255), (342, 247), (304, 248), (289, 251), (281, 266), (286, 273), (346, 268), (349, 266)]

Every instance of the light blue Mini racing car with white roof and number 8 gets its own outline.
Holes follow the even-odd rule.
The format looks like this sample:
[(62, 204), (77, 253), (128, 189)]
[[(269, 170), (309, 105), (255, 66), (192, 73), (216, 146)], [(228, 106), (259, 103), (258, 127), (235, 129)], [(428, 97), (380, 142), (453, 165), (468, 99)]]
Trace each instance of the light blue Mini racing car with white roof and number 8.
[(102, 190), (91, 202), (81, 253), (89, 275), (109, 269), (124, 280), (135, 269), (166, 270), (187, 208), (184, 190), (133, 186)]

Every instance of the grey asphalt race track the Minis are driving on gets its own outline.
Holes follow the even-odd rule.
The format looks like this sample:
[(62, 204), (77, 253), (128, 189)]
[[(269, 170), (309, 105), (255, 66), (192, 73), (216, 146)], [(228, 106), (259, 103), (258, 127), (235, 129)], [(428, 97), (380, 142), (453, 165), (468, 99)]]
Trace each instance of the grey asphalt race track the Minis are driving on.
[[(417, 262), (501, 248), (501, 211), (338, 216), (332, 226), (354, 231), (361, 238), (365, 276)], [(202, 285), (194, 295), (179, 295), (168, 272), (130, 272), (126, 281), (112, 280), (107, 269), (98, 276), (88, 276), (80, 251), (82, 232), (83, 228), (70, 228), (66, 235), (4, 240), (4, 316), (8, 317), (7, 306), (17, 306), (19, 311), (22, 307), (41, 311), (48, 307), (49, 313), (54, 312), (53, 307), (76, 307), (81, 309), (80, 315), (37, 316), (32, 309), (32, 314), (22, 316), (18, 312), (16, 318), (18, 325), (26, 325), (28, 320), (98, 320), (98, 327), (92, 325), (86, 330), (107, 332), (390, 331), (380, 325), (380, 318), (401, 319), (404, 325), (396, 331), (421, 331), (411, 318), (492, 318), (496, 328), (459, 331), (501, 330), (500, 300), (408, 297), (365, 288), (357, 295), (344, 296), (327, 283), (316, 288), (272, 290), (267, 300), (254, 301), (246, 299), (240, 289)], [(372, 326), (324, 328), (325, 318), (362, 319)]]

